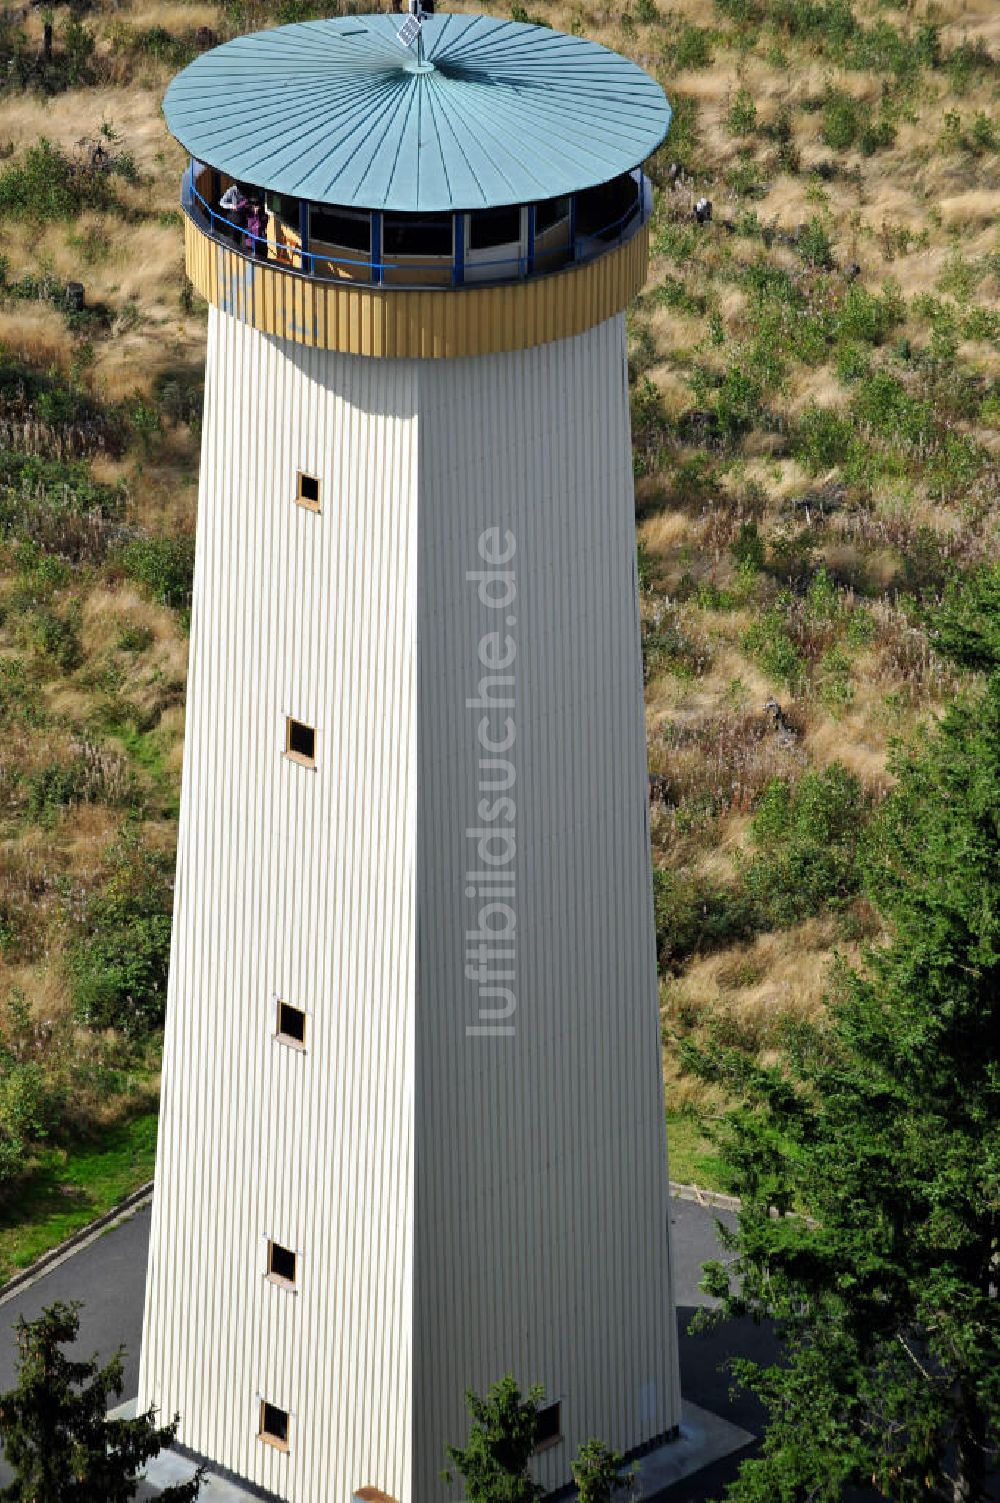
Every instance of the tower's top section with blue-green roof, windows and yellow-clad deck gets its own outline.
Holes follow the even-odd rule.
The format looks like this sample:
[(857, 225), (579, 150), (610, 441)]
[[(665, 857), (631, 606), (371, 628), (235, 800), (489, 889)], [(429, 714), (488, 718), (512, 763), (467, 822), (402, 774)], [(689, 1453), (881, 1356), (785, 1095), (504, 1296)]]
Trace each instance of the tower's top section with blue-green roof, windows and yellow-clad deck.
[(489, 17), (277, 27), (197, 59), (188, 274), (262, 332), (356, 355), (522, 349), (621, 311), (648, 259), (642, 162), (669, 125), (615, 53)]

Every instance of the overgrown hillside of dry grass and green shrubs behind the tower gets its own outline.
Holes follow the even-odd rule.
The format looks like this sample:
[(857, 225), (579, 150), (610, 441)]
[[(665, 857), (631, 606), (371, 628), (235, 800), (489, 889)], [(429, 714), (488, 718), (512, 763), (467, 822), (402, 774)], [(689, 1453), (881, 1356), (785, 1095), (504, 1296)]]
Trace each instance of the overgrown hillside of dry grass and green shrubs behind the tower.
[[(72, 1201), (80, 1156), (131, 1141), (155, 1090), (205, 346), (159, 101), (214, 39), (344, 9), (57, 6), (50, 57), (39, 11), (0, 18), (8, 1223), (60, 1174)], [(997, 547), (1000, 15), (489, 9), (629, 53), (675, 108), (630, 314), (662, 1007), (668, 1039), (765, 1054), (877, 933), (859, 834), (893, 736), (955, 691), (926, 612)], [(669, 1043), (665, 1069), (675, 1172), (710, 1180), (717, 1103)], [(0, 1237), (0, 1276), (20, 1255)]]

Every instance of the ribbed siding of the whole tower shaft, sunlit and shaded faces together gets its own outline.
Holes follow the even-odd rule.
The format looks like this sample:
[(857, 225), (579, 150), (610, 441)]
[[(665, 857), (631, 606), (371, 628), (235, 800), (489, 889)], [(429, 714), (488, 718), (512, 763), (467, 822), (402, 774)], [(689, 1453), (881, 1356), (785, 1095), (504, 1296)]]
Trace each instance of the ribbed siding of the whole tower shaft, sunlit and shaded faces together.
[[(520, 589), (510, 1042), (466, 1039), (462, 980), (465, 576), (493, 525)], [(441, 1495), (463, 1387), (507, 1368), (564, 1399), (549, 1485), (588, 1434), (677, 1420), (633, 549), (621, 319), (430, 365), (211, 313), (140, 1392), (293, 1503)], [(283, 759), (286, 714), (319, 773)], [(298, 1296), (266, 1235), (302, 1249)]]

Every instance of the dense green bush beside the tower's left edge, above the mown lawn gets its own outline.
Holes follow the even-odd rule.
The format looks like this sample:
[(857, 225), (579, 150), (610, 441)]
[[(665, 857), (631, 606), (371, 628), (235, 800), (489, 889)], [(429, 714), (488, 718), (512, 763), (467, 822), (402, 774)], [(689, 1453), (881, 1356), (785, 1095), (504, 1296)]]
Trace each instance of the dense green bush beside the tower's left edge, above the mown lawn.
[(171, 863), (126, 833), (92, 896), (69, 960), (77, 1018), (143, 1033), (162, 1022), (170, 960)]

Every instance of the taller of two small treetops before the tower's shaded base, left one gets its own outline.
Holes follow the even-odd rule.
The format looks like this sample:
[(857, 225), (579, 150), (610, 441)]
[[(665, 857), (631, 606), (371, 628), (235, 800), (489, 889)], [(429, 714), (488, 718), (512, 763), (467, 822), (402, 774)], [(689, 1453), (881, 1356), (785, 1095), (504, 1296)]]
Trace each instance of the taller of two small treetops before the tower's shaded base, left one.
[[(508, 1372), (483, 1399), (466, 1390), (469, 1443), (448, 1446), (448, 1459), (465, 1483), (465, 1503), (537, 1503), (543, 1488), (528, 1473), (538, 1434), (540, 1384), (525, 1398)], [(451, 1482), (451, 1470), (444, 1473)]]

